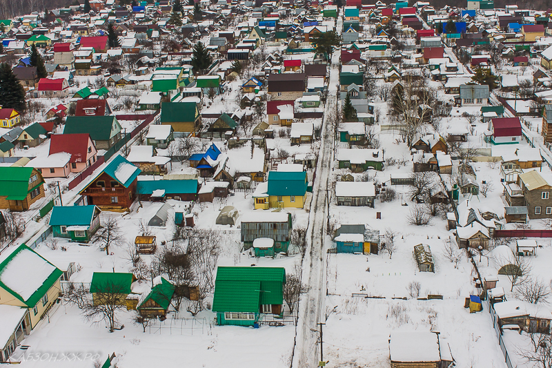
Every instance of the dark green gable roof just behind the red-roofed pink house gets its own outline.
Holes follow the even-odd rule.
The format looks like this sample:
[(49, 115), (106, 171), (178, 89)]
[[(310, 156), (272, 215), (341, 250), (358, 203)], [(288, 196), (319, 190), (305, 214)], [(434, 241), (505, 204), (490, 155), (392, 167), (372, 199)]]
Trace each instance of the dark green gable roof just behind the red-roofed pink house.
[(92, 141), (107, 141), (116, 134), (117, 127), (120, 131), (121, 126), (115, 116), (70, 116), (63, 134), (88, 133)]

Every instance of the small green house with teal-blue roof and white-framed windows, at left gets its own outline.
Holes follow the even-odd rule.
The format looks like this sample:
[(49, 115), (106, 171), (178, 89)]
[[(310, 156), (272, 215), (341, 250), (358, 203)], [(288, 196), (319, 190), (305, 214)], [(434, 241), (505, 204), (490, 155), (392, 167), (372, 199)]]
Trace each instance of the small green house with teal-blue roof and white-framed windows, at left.
[(72, 242), (89, 242), (99, 229), (97, 206), (54, 206), (50, 226), (55, 238), (67, 238)]

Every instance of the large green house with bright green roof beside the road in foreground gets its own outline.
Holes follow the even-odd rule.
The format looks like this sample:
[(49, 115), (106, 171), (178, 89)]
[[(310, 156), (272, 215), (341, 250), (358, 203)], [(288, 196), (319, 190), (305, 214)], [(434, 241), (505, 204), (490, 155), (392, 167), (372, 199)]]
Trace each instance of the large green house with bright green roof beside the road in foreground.
[(282, 316), (285, 283), (284, 267), (218, 267), (217, 325), (253, 326), (262, 314)]

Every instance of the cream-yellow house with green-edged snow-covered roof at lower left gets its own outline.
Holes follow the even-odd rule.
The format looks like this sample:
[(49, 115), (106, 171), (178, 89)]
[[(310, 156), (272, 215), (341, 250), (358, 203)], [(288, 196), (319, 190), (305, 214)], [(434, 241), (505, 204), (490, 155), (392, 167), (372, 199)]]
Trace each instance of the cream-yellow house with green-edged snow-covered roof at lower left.
[(62, 274), (21, 244), (0, 263), (0, 304), (28, 309), (33, 329), (61, 295)]

